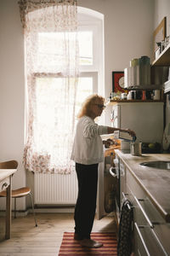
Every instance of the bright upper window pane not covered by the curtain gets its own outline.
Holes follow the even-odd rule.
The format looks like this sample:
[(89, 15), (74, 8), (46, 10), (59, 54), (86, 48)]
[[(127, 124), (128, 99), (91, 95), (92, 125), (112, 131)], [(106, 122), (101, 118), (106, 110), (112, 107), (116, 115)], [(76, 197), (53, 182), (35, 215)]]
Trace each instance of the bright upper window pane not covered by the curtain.
[(93, 65), (93, 32), (78, 32), (80, 65)]

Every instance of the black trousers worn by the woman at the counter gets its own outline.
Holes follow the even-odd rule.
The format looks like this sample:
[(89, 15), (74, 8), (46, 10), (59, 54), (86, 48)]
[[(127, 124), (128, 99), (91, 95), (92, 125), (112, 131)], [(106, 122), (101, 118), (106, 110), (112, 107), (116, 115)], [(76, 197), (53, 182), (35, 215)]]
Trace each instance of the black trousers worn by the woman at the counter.
[(75, 207), (75, 233), (82, 239), (90, 238), (96, 210), (98, 164), (81, 165), (76, 163), (78, 196)]

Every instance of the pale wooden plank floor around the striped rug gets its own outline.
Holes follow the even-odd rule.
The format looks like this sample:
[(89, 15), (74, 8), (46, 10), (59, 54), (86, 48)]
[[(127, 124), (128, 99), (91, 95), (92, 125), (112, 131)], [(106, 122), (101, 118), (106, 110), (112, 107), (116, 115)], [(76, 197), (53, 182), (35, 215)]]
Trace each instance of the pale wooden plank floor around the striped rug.
[[(57, 256), (65, 231), (74, 232), (73, 213), (38, 213), (12, 218), (11, 239), (4, 240), (4, 218), (0, 218), (1, 256)], [(116, 231), (114, 216), (95, 219), (93, 231)]]

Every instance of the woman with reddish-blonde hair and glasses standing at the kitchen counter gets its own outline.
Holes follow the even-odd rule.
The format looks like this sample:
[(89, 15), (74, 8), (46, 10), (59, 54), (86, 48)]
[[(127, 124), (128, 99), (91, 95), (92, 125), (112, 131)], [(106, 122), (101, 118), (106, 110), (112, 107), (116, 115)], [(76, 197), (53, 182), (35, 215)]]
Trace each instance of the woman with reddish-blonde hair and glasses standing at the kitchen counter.
[(98, 165), (104, 160), (103, 143), (110, 143), (110, 141), (102, 142), (100, 135), (120, 130), (135, 136), (133, 131), (97, 125), (94, 122), (94, 119), (103, 112), (104, 102), (102, 96), (92, 95), (82, 104), (71, 153), (71, 160), (76, 162), (78, 180), (74, 239), (84, 247), (103, 246), (102, 242), (90, 238), (96, 210)]

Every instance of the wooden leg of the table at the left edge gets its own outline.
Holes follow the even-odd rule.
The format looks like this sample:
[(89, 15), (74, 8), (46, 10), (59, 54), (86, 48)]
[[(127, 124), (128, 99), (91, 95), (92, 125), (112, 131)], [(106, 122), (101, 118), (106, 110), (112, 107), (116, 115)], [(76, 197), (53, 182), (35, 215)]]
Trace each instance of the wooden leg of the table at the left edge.
[(7, 197), (6, 197), (6, 234), (5, 238), (10, 238), (10, 230), (11, 230), (11, 177), (10, 184), (7, 188)]

